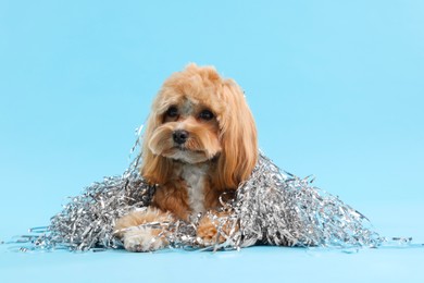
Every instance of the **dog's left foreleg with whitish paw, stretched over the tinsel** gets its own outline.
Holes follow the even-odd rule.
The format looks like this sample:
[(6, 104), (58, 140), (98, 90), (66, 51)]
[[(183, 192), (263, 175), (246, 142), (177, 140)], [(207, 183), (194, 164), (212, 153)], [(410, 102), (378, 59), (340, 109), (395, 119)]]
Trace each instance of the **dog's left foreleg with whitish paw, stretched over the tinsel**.
[[(164, 231), (154, 223), (173, 222), (169, 212), (158, 208), (149, 207), (145, 211), (134, 211), (120, 218), (116, 221), (115, 234), (120, 237), (125, 249), (129, 251), (151, 251), (165, 247), (166, 241)], [(147, 224), (147, 225), (144, 225)], [(152, 226), (149, 226), (152, 225)]]

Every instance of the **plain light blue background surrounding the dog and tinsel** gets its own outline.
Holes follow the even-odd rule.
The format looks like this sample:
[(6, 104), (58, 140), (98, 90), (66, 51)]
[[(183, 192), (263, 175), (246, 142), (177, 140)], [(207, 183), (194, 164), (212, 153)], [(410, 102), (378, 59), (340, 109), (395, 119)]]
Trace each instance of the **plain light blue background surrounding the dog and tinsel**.
[[(420, 0), (0, 0), (0, 238), (122, 173), (163, 79), (197, 62), (242, 86), (280, 168), (316, 175), (383, 235), (424, 243), (423, 15)], [(422, 248), (0, 249), (1, 282), (424, 280)]]

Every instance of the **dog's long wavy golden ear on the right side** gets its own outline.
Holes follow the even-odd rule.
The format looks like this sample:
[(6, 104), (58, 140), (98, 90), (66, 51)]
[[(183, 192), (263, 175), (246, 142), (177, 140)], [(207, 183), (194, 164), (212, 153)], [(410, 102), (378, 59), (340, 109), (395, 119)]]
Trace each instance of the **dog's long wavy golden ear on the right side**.
[(223, 83), (222, 91), (228, 107), (219, 118), (223, 150), (215, 183), (220, 189), (235, 189), (250, 176), (257, 164), (257, 127), (240, 87), (227, 79)]

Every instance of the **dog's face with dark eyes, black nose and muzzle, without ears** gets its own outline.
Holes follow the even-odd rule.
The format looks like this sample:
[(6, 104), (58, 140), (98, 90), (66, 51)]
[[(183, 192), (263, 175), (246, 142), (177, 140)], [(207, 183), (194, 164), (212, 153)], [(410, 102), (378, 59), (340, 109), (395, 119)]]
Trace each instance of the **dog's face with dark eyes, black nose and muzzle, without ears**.
[[(185, 90), (192, 87), (190, 83), (184, 81)], [(152, 130), (148, 148), (153, 155), (187, 163), (209, 161), (222, 150), (219, 118), (223, 101), (217, 99), (213, 85), (196, 93), (179, 87), (173, 85), (158, 98), (154, 109), (161, 123)]]

